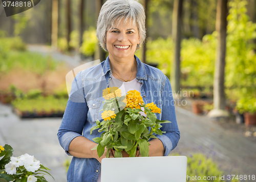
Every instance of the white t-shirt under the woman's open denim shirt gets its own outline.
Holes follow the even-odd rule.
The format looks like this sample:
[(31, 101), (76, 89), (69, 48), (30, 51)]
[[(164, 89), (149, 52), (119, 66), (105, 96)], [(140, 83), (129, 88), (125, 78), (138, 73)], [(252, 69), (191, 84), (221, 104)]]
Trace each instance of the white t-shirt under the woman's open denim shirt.
[[(130, 82), (121, 82), (112, 75), (112, 81), (110, 82), (109, 87), (118, 87), (119, 89), (121, 89), (122, 95), (125, 95), (130, 90), (137, 90), (140, 92), (141, 85), (142, 83), (139, 83), (136, 78)], [(144, 108), (141, 108), (141, 110), (144, 111)], [(146, 116), (144, 112), (140, 112), (140, 114)], [(101, 170), (99, 171), (99, 177), (97, 182), (100, 182), (100, 175)]]

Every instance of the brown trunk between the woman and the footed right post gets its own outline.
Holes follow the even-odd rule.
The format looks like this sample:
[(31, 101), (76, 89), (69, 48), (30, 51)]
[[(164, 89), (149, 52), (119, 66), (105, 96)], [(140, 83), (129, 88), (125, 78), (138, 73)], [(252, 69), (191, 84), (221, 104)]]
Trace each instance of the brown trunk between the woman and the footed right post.
[(172, 75), (170, 75), (172, 80), (173, 92), (178, 93), (180, 91), (180, 49), (181, 49), (181, 15), (182, 15), (182, 3), (183, 0), (174, 1), (173, 10), (173, 29), (172, 37), (174, 41), (174, 60), (172, 64)]

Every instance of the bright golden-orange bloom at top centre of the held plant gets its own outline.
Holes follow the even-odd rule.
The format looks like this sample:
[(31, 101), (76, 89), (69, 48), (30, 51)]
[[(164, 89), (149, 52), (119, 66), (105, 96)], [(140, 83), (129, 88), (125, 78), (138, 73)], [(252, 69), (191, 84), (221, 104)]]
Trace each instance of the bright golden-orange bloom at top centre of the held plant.
[(126, 107), (125, 108), (136, 108), (141, 109), (140, 105), (142, 105), (143, 99), (140, 95), (140, 92), (137, 90), (131, 90), (127, 92), (126, 95)]

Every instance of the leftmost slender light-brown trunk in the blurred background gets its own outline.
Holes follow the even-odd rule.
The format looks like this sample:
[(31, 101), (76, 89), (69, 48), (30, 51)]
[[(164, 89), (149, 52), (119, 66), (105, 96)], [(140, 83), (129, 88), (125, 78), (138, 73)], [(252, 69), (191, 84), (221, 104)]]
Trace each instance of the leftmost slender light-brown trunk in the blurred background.
[(52, 1), (52, 47), (58, 46), (58, 0)]

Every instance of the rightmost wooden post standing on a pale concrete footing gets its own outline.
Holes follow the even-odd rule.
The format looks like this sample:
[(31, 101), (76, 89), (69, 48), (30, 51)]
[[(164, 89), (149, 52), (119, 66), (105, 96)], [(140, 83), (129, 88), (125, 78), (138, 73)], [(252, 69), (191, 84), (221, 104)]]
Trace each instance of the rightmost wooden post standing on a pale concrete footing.
[(216, 31), (218, 32), (217, 56), (214, 73), (214, 110), (208, 113), (209, 117), (227, 117), (225, 109), (224, 73), (226, 57), (227, 32), (227, 0), (218, 0), (216, 15)]

